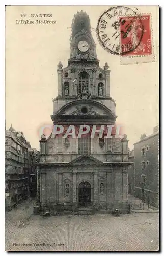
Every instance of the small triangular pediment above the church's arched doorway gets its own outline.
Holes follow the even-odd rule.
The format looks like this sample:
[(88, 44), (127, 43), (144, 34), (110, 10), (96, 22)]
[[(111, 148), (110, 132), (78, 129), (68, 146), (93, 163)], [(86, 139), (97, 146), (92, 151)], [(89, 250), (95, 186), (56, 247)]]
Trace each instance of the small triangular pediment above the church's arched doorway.
[(69, 164), (72, 164), (72, 165), (96, 164), (97, 165), (97, 164), (102, 164), (102, 162), (88, 154), (84, 154), (80, 157), (77, 157), (76, 159), (71, 161)]

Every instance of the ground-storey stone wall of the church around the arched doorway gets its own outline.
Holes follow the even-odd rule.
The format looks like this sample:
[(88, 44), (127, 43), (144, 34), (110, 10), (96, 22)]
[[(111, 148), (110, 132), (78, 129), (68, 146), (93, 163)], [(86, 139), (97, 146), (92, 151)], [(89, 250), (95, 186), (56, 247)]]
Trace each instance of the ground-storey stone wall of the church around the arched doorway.
[[(108, 166), (63, 166), (41, 169), (40, 203), (46, 205), (78, 205), (79, 184), (87, 181), (91, 185), (91, 204), (102, 208), (120, 207), (127, 202), (127, 169)], [(66, 194), (69, 184), (69, 194)], [(104, 191), (100, 185), (103, 184)]]

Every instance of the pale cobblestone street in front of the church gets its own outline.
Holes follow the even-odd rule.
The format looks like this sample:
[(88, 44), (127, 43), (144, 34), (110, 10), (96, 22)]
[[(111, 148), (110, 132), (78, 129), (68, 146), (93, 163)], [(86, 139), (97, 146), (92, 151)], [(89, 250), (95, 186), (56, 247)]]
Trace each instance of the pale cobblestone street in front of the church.
[(157, 213), (42, 217), (31, 215), (32, 205), (28, 210), (23, 209), (6, 214), (8, 251), (153, 251), (158, 248)]

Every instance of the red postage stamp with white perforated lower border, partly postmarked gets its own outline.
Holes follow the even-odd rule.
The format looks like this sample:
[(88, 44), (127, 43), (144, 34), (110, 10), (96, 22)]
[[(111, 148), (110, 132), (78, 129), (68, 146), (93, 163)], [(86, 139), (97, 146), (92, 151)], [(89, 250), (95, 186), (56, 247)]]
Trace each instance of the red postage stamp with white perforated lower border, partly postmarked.
[(153, 62), (151, 16), (120, 17), (121, 64)]

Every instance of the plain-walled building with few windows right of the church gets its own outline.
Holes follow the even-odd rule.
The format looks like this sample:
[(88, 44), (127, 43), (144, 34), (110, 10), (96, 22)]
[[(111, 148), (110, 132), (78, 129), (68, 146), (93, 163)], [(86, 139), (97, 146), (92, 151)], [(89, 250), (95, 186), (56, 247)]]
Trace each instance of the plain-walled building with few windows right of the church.
[[(131, 159), (132, 160), (132, 159)], [(159, 197), (159, 130), (154, 128), (151, 135), (142, 134), (140, 141), (134, 143), (134, 168), (129, 178), (133, 193), (146, 202), (158, 206)], [(132, 172), (134, 170), (134, 181)]]

